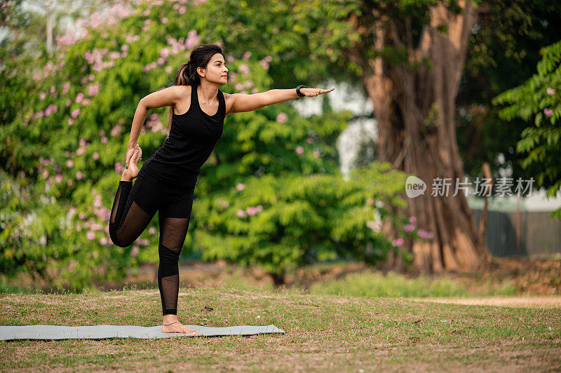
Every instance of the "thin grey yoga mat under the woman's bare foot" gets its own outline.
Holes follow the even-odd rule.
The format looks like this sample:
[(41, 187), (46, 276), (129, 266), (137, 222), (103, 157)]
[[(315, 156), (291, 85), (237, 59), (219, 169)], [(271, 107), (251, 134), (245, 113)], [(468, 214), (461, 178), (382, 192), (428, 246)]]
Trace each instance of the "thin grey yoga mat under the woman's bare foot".
[(161, 325), (140, 327), (134, 325), (93, 325), (67, 327), (58, 325), (0, 326), (0, 341), (10, 339), (104, 339), (104, 338), (170, 338), (170, 337), (211, 337), (217, 335), (252, 335), (260, 333), (284, 333), (275, 325), (231, 327), (205, 327), (185, 325), (198, 335), (183, 333), (163, 333)]

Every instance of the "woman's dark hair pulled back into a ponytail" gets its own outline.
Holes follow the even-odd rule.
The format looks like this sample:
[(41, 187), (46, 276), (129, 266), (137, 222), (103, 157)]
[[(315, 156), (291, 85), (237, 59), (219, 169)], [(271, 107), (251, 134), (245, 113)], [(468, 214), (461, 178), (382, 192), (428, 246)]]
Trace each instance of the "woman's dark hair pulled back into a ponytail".
[[(182, 64), (175, 74), (175, 86), (201, 86), (201, 76), (198, 76), (197, 67), (206, 69), (206, 65), (216, 53), (220, 53), (224, 59), (222, 47), (216, 44), (201, 44), (191, 50), (189, 60)], [(168, 133), (173, 119), (173, 105), (168, 112)]]

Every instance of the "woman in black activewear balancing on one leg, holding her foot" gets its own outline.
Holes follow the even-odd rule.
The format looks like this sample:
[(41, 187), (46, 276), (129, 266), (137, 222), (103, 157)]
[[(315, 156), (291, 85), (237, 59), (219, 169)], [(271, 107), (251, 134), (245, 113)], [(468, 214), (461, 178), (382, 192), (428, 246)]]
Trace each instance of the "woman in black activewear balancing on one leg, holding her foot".
[[(140, 100), (130, 130), (125, 170), (111, 208), (109, 236), (120, 247), (131, 245), (158, 211), (158, 287), (164, 333), (197, 334), (177, 320), (178, 261), (189, 227), (197, 175), (222, 136), (224, 117), (334, 89), (299, 86), (254, 95), (230, 95), (218, 89), (228, 82), (227, 72), (222, 48), (215, 44), (196, 46), (189, 62), (177, 70), (175, 86)], [(164, 106), (170, 106), (169, 136), (139, 171), (137, 163), (142, 149), (136, 142), (142, 123), (149, 109)]]

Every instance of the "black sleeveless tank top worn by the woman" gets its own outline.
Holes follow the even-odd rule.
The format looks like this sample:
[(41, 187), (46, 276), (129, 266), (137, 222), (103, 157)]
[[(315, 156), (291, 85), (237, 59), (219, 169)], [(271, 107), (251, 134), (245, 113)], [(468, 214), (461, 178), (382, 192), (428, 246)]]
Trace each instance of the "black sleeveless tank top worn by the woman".
[(142, 170), (165, 182), (196, 182), (201, 166), (222, 137), (225, 116), (222, 90), (218, 90), (218, 111), (208, 115), (198, 104), (197, 86), (191, 86), (189, 110), (173, 114), (170, 134), (142, 165)]

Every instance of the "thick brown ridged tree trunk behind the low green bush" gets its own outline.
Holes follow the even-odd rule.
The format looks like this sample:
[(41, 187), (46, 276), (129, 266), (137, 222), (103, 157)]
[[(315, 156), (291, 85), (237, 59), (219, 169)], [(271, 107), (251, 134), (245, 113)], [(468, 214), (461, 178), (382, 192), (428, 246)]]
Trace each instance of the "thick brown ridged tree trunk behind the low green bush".
[[(454, 14), (441, 3), (431, 7), (431, 21), (422, 29), (416, 47), (412, 42), (411, 20), (405, 20), (399, 29), (374, 9), (375, 50), (381, 51), (385, 46), (404, 48), (408, 63), (389, 65), (383, 57), (365, 60), (361, 50), (365, 46), (360, 45), (353, 47), (349, 55), (363, 67), (363, 83), (379, 129), (379, 161), (390, 162), (394, 168), (426, 182), (425, 194), (415, 198), (404, 194), (408, 206), (401, 211), (416, 217), (420, 229), (433, 233), (431, 242), (406, 242), (413, 255), (414, 269), (420, 273), (473, 271), (490, 259), (464, 192), (460, 189), (454, 196), (456, 182), (466, 182), (456, 141), (455, 100), (468, 37), (476, 19), (471, 2), (459, 1), (459, 6), (464, 13)], [(351, 21), (360, 27), (358, 18), (351, 16)], [(447, 33), (437, 29), (443, 24), (447, 25)], [(431, 69), (424, 65), (424, 59), (431, 62)], [(411, 65), (414, 63), (419, 64), (417, 69)], [(448, 192), (433, 190), (435, 195), (431, 195), (436, 178), (450, 178)], [(393, 229), (386, 226), (385, 231)], [(392, 258), (388, 264), (403, 269), (398, 258)]]

